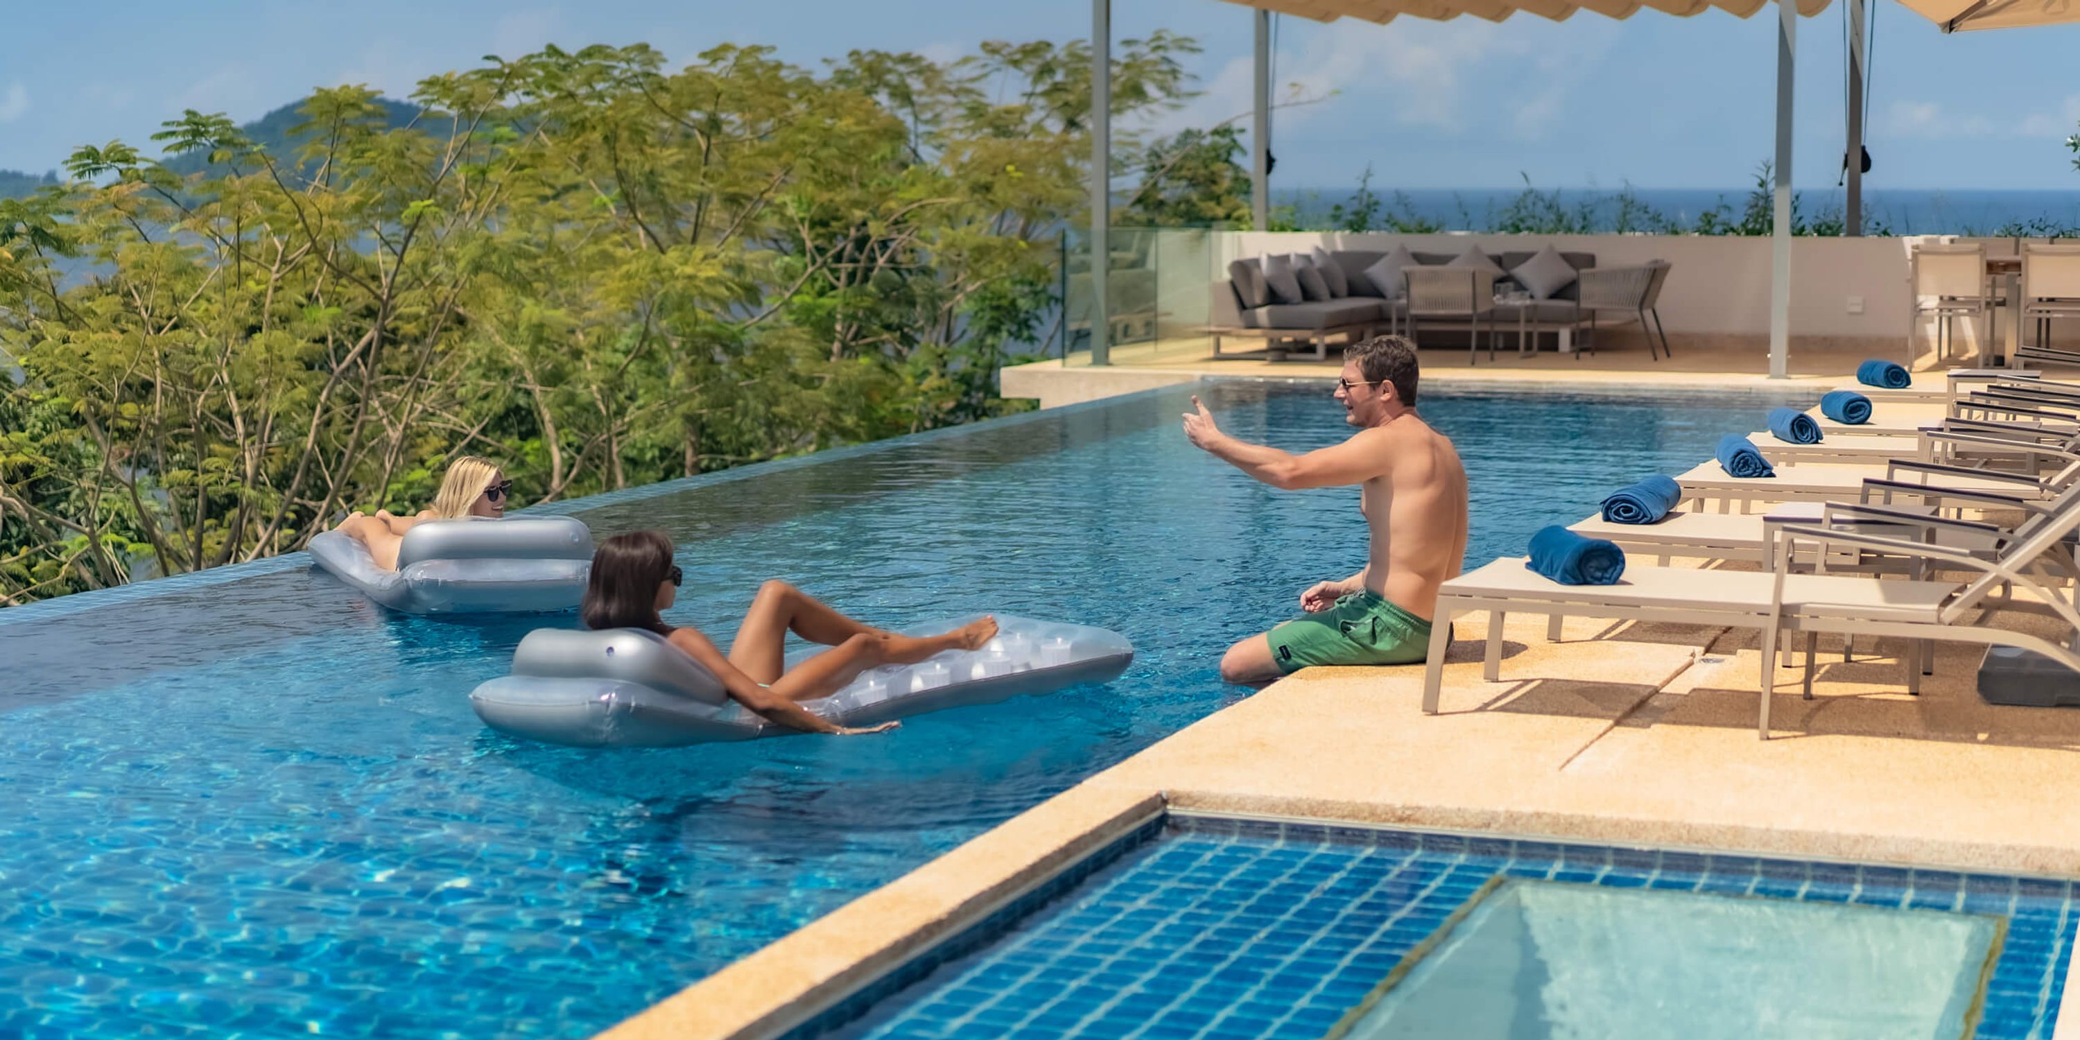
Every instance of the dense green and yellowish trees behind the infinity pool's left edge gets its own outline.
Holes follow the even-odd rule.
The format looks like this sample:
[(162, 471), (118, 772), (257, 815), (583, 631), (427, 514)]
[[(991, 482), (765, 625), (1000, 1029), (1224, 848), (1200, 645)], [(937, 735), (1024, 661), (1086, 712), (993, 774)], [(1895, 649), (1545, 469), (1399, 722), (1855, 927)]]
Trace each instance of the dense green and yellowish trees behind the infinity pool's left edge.
[[(1121, 46), (1115, 119), (1190, 50)], [(270, 141), (79, 148), (0, 200), (0, 603), (291, 551), (458, 453), (545, 501), (1017, 408), (1088, 62), (545, 48), (406, 121), (327, 87)]]

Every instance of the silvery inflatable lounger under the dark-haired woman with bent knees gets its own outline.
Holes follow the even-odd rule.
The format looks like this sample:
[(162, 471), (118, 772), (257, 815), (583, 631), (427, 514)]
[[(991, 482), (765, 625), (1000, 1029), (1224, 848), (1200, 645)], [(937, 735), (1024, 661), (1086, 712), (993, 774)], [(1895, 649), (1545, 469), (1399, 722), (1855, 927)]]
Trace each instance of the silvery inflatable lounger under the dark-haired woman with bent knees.
[[(944, 632), (976, 616), (919, 626)], [(996, 616), (996, 639), (976, 651), (946, 651), (919, 664), (869, 668), (830, 697), (801, 707), (842, 726), (986, 705), (1111, 682), (1134, 664), (1119, 632), (1084, 624)], [(788, 657), (792, 668), (822, 647)], [(510, 676), (493, 678), (470, 705), (491, 728), (574, 747), (678, 747), (799, 732), (730, 701), (705, 668), (655, 632), (537, 628), (514, 651)]]

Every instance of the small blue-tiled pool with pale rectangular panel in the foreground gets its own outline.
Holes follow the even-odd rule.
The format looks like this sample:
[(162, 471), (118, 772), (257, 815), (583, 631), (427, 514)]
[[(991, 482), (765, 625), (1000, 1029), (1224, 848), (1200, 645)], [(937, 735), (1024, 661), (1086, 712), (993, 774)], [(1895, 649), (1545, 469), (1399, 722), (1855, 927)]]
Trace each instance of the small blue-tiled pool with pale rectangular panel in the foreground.
[(1104, 855), (795, 1038), (2043, 1040), (2080, 928), (2063, 880), (1747, 855), (1192, 815)]

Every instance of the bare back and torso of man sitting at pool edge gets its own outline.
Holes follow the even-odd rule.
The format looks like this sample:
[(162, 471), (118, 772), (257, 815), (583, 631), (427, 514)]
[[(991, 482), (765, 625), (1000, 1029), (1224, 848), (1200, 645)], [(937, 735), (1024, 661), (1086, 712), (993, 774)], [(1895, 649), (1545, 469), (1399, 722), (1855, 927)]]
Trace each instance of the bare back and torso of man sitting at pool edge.
[(1364, 483), (1373, 528), (1367, 589), (1429, 618), (1437, 587), (1458, 576), (1466, 557), (1466, 468), (1452, 439), (1414, 414), (1360, 433), (1379, 439), (1389, 468)]

